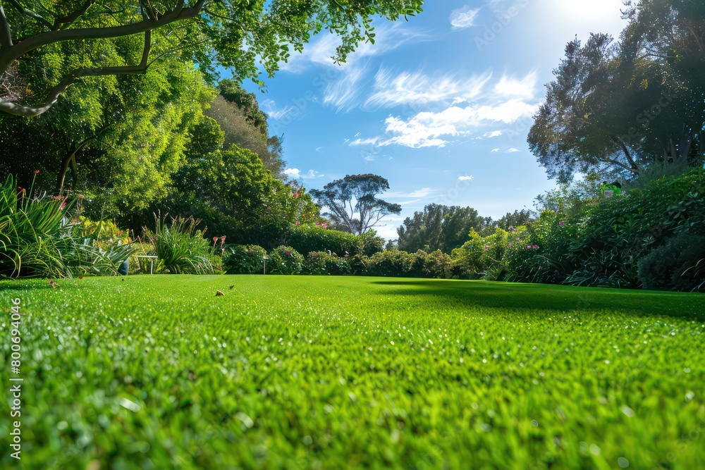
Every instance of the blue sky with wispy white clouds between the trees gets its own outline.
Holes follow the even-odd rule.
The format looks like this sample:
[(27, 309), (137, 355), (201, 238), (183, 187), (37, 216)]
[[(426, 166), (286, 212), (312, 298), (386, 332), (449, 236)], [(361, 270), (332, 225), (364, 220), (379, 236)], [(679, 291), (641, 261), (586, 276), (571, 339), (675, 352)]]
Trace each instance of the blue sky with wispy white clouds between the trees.
[(376, 22), (376, 43), (343, 66), (322, 34), (255, 85), (270, 130), (284, 136), (287, 173), (306, 187), (346, 174), (389, 180), (403, 206), (378, 232), (432, 202), (483, 216), (532, 207), (554, 187), (526, 137), (565, 44), (615, 37), (621, 0), (428, 0), (407, 21)]

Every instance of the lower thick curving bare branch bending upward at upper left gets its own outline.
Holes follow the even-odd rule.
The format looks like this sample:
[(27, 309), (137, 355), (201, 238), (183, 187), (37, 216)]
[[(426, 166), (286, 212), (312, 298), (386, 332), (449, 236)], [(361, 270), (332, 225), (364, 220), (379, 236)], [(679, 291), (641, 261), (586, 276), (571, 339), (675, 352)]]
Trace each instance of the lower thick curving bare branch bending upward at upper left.
[(11, 103), (9, 101), (3, 101), (0, 99), (0, 111), (5, 111), (6, 113), (13, 114), (15, 116), (39, 116), (42, 113), (47, 112), (54, 106), (56, 100), (59, 96), (66, 91), (68, 87), (78, 82), (83, 77), (98, 77), (101, 75), (137, 75), (140, 73), (145, 73), (147, 67), (149, 66), (149, 51), (152, 49), (152, 31), (145, 31), (145, 48), (142, 51), (142, 61), (137, 66), (122, 66), (122, 67), (102, 67), (102, 68), (81, 68), (79, 70), (74, 70), (73, 72), (66, 75), (66, 77), (59, 82), (54, 88), (49, 90), (47, 99), (44, 103), (39, 106), (21, 106), (18, 104)]

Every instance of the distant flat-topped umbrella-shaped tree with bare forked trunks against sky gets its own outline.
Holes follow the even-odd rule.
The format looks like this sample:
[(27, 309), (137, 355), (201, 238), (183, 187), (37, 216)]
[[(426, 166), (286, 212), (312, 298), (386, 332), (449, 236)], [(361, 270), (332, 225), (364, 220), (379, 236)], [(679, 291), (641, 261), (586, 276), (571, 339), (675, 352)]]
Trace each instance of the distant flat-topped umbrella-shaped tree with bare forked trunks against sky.
[(377, 199), (389, 189), (389, 183), (378, 175), (346, 175), (323, 187), (311, 190), (311, 196), (329, 210), (324, 217), (333, 221), (338, 230), (362, 235), (376, 227), (384, 216), (400, 214), (401, 206)]

